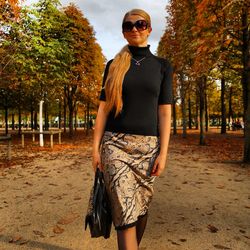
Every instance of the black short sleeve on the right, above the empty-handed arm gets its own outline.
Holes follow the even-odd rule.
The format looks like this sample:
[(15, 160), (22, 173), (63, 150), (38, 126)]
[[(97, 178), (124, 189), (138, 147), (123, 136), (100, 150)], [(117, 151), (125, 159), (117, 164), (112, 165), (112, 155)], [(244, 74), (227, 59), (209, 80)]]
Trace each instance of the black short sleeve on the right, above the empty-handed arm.
[(158, 99), (158, 104), (172, 104), (173, 102), (173, 91), (172, 91), (172, 81), (173, 81), (173, 67), (167, 61), (162, 62), (163, 66), (163, 77), (161, 82), (160, 95)]

